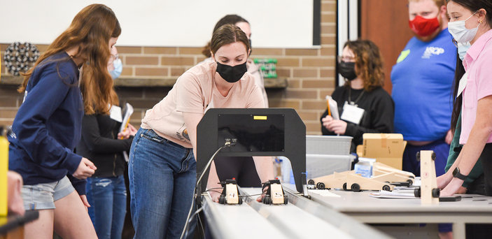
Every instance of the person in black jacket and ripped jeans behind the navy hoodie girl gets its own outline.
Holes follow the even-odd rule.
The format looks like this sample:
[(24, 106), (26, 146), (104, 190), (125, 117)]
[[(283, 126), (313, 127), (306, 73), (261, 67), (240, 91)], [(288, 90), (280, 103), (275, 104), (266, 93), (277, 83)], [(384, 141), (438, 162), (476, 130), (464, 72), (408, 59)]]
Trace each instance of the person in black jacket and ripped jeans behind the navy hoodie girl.
[[(121, 60), (113, 46), (108, 71), (112, 78), (121, 73)], [(118, 96), (113, 89), (113, 97)], [(118, 115), (120, 118), (115, 117)], [(132, 145), (136, 129), (128, 124), (120, 132), (121, 109), (111, 106), (109, 114), (86, 114), (82, 119), (82, 140), (76, 147), (77, 154), (92, 159), (97, 171), (87, 178), (87, 201), (91, 205), (90, 219), (99, 238), (121, 238), (125, 221), (127, 190), (125, 187), (125, 158), (123, 152)]]

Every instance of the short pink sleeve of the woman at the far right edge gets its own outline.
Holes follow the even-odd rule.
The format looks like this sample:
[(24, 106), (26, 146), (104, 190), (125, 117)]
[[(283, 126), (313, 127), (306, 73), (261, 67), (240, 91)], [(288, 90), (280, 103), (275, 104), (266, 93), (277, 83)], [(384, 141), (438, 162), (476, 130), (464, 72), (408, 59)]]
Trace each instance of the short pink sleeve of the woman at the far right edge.
[(477, 99), (482, 99), (486, 96), (492, 95), (492, 57), (490, 54), (492, 50), (484, 50), (480, 55), (483, 59), (477, 62), (478, 69), (475, 74), (475, 81), (477, 82)]

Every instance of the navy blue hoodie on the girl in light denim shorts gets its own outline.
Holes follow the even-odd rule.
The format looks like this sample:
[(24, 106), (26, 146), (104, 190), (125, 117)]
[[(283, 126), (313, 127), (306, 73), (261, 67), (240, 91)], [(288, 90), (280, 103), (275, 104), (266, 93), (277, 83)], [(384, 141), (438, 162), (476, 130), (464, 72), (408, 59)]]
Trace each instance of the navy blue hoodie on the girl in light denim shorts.
[(85, 194), (85, 180), (71, 177), (82, 159), (73, 149), (80, 140), (83, 113), (78, 67), (69, 55), (59, 52), (38, 64), (8, 136), (9, 170), (20, 173), (27, 185), (69, 175), (78, 193)]

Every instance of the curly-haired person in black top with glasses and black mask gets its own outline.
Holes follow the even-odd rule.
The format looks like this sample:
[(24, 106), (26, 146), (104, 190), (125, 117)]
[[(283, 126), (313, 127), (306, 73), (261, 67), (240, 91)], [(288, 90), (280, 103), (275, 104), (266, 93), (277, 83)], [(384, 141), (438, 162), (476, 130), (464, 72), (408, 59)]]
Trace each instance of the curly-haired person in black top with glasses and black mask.
[(338, 57), (338, 71), (346, 79), (332, 99), (337, 101), (340, 119), (328, 109), (321, 116), (323, 135), (352, 136), (351, 152), (363, 143), (363, 133), (391, 133), (395, 104), (381, 87), (383, 61), (377, 45), (369, 40), (347, 41)]

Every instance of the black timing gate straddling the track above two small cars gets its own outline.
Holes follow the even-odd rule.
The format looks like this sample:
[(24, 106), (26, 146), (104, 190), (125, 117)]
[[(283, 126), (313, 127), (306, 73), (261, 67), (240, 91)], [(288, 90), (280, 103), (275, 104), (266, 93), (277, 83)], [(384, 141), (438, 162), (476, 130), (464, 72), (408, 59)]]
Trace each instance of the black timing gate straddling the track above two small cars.
[[(306, 172), (306, 126), (292, 108), (211, 108), (197, 126), (197, 178), (213, 153), (251, 157), (284, 156), (292, 164), (295, 187), (302, 192)], [(197, 187), (197, 203), (206, 190), (209, 169)]]

